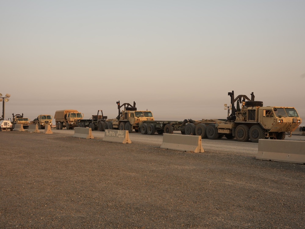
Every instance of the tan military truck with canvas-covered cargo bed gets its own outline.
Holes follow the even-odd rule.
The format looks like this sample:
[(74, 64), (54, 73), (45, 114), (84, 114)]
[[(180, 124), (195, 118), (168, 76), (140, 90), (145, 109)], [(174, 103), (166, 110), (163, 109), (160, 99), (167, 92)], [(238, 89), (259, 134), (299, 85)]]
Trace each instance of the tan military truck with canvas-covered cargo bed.
[(74, 129), (77, 127), (78, 120), (83, 119), (84, 114), (77, 110), (61, 110), (56, 111), (54, 118), (56, 122), (56, 129)]

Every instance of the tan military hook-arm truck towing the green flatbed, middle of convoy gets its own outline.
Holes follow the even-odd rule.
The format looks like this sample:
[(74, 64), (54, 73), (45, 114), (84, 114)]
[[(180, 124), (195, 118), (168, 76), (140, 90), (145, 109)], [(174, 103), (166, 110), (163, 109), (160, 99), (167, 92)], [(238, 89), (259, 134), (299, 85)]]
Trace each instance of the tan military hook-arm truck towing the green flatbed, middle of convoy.
[[(120, 111), (121, 107), (124, 106), (124, 110)], [(119, 115), (117, 118), (107, 119), (103, 123), (103, 128), (99, 126), (100, 131), (105, 129), (120, 129), (128, 130), (129, 133), (134, 129), (135, 132), (139, 132), (139, 125), (142, 121), (154, 120), (151, 111), (138, 111), (135, 107), (135, 101), (133, 106), (129, 103), (120, 105), (120, 101), (117, 102)]]

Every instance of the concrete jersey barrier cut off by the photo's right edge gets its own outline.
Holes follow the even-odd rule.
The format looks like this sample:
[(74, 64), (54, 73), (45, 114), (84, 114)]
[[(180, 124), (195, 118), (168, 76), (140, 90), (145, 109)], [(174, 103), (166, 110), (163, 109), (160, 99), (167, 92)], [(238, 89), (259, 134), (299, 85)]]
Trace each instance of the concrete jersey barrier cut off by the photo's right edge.
[(305, 163), (305, 141), (260, 139), (256, 159)]

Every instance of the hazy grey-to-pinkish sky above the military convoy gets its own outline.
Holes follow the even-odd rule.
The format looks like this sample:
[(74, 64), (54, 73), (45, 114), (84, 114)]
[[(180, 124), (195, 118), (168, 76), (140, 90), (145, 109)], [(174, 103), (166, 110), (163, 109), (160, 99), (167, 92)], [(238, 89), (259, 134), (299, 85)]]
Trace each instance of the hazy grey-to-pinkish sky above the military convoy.
[(115, 118), (118, 100), (157, 120), (226, 118), (234, 90), (304, 119), (304, 9), (303, 0), (0, 0), (5, 118), (63, 109)]

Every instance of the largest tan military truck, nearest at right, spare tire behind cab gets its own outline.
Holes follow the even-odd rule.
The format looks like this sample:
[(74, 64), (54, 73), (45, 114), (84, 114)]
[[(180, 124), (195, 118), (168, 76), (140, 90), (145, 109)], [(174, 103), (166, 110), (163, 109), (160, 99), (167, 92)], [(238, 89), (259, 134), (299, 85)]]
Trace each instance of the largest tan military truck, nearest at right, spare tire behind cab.
[[(263, 107), (263, 102), (254, 101), (245, 95), (234, 98), (234, 91), (228, 93), (231, 104), (228, 109), (228, 118), (223, 120), (193, 121), (185, 125), (187, 135), (201, 135), (202, 138), (217, 139), (225, 136), (238, 141), (258, 142), (259, 139), (271, 138), (284, 140), (286, 133), (295, 131), (302, 119), (294, 107)], [(247, 101), (246, 101), (247, 100)], [(237, 106), (235, 107), (235, 102)], [(241, 108), (239, 104), (242, 104)], [(229, 115), (230, 109), (232, 110)]]

